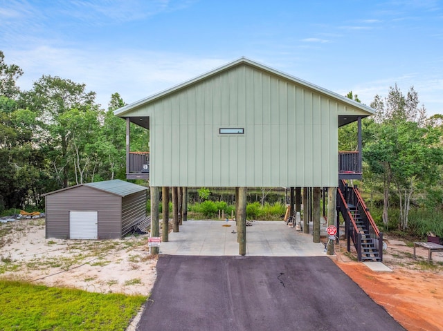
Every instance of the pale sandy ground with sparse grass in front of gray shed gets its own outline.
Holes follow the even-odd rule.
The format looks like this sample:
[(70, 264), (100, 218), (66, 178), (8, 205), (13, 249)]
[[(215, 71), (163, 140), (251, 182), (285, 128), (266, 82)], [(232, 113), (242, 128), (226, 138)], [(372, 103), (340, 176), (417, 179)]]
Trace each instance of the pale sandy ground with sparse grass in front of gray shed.
[[(45, 238), (44, 219), (2, 224), (0, 278), (89, 292), (149, 295), (156, 258), (147, 235), (122, 240)], [(1, 247), (3, 246), (3, 247)]]

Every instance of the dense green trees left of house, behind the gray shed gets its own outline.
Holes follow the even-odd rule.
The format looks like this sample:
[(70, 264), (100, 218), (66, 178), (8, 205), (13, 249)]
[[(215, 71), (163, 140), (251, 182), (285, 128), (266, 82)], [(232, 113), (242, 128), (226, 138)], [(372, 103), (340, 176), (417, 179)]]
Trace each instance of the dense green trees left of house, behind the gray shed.
[[(84, 182), (125, 179), (125, 106), (118, 93), (108, 108), (85, 84), (43, 75), (20, 91), (23, 70), (0, 51), (0, 211), (44, 209), (42, 194)], [(131, 128), (134, 149), (147, 151), (149, 133)]]

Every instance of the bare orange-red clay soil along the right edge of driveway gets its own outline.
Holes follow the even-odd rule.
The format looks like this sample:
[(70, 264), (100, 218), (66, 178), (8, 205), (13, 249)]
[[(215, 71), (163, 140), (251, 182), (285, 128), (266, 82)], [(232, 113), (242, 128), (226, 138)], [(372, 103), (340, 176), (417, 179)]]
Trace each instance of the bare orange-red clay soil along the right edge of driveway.
[(336, 261), (372, 300), (383, 306), (406, 330), (443, 330), (443, 276), (441, 272), (396, 267), (372, 272), (363, 263)]

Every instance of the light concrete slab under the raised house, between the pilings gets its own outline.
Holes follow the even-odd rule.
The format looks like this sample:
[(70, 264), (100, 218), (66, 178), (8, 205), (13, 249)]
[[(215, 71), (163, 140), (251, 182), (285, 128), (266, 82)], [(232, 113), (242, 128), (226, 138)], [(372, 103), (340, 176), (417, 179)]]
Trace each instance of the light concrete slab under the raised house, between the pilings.
[[(171, 232), (161, 243), (160, 254), (226, 256), (238, 255), (235, 222), (188, 220), (180, 232)], [(323, 256), (325, 246), (313, 243), (311, 234), (302, 234), (282, 221), (257, 221), (246, 227), (246, 255)]]

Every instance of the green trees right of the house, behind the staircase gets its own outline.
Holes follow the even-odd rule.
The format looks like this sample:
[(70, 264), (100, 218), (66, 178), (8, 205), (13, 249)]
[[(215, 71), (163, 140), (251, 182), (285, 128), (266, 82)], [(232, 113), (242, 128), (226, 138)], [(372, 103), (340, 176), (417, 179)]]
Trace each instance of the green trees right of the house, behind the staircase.
[[(359, 102), (352, 92), (347, 97)], [(406, 230), (411, 207), (437, 211), (443, 207), (443, 117), (427, 117), (417, 91), (410, 87), (404, 94), (397, 84), (386, 97), (375, 95), (370, 106), (375, 115), (362, 121), (361, 185), (372, 202), (380, 202), (383, 225), (394, 221)], [(339, 149), (356, 149), (356, 139), (352, 139), (356, 131), (355, 123), (339, 130)], [(399, 211), (398, 219), (390, 219), (392, 208)]]

